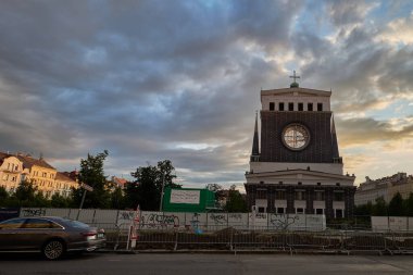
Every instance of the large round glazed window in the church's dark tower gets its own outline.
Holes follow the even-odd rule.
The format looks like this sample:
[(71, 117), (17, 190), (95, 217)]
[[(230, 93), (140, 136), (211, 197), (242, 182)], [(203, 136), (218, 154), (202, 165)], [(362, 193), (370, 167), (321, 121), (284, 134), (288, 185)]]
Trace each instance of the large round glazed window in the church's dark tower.
[(302, 150), (310, 142), (310, 133), (305, 126), (295, 123), (283, 130), (283, 143), (291, 150)]

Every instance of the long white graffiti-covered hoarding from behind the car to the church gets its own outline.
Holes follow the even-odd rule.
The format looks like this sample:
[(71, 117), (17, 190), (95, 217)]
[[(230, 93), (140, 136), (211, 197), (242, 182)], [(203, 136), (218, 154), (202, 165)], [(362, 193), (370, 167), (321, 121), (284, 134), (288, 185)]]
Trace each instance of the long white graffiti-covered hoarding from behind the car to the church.
[[(135, 211), (99, 209), (22, 208), (21, 216), (62, 216), (103, 226), (108, 224), (127, 228), (136, 216)], [(324, 215), (273, 213), (183, 213), (139, 212), (139, 229), (198, 229), (221, 230), (226, 227), (254, 230), (324, 230)]]

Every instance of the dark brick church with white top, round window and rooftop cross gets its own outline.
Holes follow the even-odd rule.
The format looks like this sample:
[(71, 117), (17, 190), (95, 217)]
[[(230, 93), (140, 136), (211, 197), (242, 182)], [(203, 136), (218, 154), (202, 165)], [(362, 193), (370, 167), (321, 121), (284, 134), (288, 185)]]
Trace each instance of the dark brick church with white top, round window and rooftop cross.
[(261, 90), (261, 135), (256, 114), (246, 173), (249, 209), (352, 216), (355, 176), (343, 174), (331, 91), (300, 88), (296, 72), (291, 77), (295, 82), (289, 88)]

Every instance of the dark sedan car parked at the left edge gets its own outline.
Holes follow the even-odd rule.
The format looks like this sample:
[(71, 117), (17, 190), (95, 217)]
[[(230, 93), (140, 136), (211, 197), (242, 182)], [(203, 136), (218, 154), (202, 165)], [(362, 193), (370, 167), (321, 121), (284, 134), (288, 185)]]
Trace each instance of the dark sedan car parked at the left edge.
[(41, 252), (55, 260), (70, 251), (105, 246), (104, 230), (57, 216), (15, 217), (0, 223), (0, 252)]

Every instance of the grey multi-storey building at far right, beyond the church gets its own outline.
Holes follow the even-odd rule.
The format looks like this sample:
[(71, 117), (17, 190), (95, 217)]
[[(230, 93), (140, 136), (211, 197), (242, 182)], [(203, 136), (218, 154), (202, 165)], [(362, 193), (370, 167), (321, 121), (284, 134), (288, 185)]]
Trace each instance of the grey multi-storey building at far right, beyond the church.
[(355, 191), (354, 204), (362, 205), (368, 202), (374, 204), (380, 197), (389, 203), (398, 192), (403, 199), (408, 199), (410, 193), (413, 193), (413, 175), (408, 176), (406, 173), (399, 172), (392, 176), (374, 180), (366, 177)]

